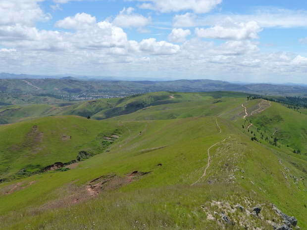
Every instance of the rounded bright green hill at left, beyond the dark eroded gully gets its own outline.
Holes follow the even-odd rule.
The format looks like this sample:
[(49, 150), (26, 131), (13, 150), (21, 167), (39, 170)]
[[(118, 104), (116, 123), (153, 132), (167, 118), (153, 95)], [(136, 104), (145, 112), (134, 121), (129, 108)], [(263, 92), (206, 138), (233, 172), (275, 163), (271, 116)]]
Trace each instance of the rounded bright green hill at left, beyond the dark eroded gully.
[(103, 137), (114, 132), (119, 131), (109, 123), (75, 116), (0, 126), (0, 179), (20, 178), (55, 162), (76, 160), (80, 151), (88, 155), (100, 153)]

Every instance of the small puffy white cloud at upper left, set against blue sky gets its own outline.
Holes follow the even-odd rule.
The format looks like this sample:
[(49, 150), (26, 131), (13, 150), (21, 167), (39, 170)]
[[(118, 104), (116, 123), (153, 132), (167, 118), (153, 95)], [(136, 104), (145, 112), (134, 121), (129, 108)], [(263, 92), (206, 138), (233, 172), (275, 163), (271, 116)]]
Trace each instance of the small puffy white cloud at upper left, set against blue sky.
[(77, 13), (73, 17), (66, 17), (55, 23), (58, 28), (84, 30), (93, 28), (96, 25), (96, 17), (87, 13)]

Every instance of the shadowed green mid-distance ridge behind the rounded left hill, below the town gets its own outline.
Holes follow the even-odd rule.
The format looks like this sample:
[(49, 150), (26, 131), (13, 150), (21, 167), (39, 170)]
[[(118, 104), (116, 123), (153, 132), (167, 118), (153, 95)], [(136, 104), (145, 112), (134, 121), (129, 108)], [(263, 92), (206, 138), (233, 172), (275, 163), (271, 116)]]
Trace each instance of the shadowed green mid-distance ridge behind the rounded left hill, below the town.
[[(247, 95), (248, 94), (246, 93), (240, 92), (152, 92), (148, 94), (135, 94), (124, 98), (97, 99), (85, 102), (63, 102), (56, 105), (38, 104), (22, 107), (2, 106), (2, 111), (0, 111), (0, 122), (2, 121), (2, 124), (15, 123), (53, 115), (90, 116), (93, 119), (102, 120), (110, 117), (130, 114), (150, 106), (169, 106), (170, 104), (176, 104), (175, 107), (182, 108), (184, 105), (180, 103), (183, 102), (195, 101), (194, 105), (197, 105), (198, 102), (218, 103), (221, 101), (218, 98), (246, 97)], [(210, 101), (209, 99), (212, 100)], [(186, 104), (188, 104), (190, 107), (194, 106), (190, 103)], [(181, 117), (182, 116), (184, 115), (181, 114)], [(197, 115), (192, 114), (191, 116)], [(160, 119), (164, 119), (160, 115), (158, 115), (158, 117), (160, 117)]]

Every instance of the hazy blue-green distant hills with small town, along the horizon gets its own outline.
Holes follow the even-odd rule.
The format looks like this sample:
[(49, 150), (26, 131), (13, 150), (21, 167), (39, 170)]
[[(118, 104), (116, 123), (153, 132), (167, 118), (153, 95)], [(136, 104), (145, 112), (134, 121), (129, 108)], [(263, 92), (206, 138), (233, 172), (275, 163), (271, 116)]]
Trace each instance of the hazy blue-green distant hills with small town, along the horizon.
[[(121, 81), (112, 77), (91, 79), (80, 76), (33, 76), (26, 74), (0, 73), (0, 92), (7, 93), (52, 93), (55, 95), (75, 95), (100, 93), (107, 95), (130, 95), (148, 92), (210, 92), (235, 91), (262, 95), (307, 96), (307, 86), (288, 84), (244, 84), (199, 80), (175, 81)], [(83, 79), (82, 79), (83, 78)]]

